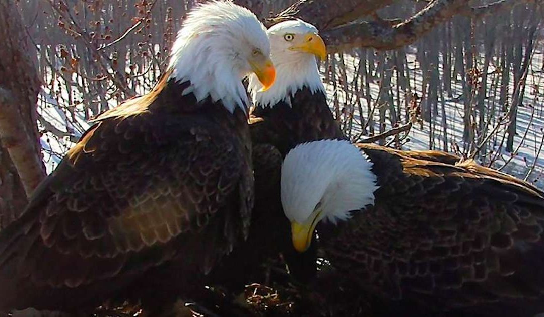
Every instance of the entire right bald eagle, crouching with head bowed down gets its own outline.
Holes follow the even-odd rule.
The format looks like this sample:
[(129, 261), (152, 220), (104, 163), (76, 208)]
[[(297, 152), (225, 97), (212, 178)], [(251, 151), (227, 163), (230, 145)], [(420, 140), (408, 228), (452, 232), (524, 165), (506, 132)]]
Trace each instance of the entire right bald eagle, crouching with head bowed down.
[(429, 312), (544, 312), (544, 192), (434, 158), (342, 140), (296, 146), (281, 168), (294, 247), (317, 229), (325, 257), (361, 289)]

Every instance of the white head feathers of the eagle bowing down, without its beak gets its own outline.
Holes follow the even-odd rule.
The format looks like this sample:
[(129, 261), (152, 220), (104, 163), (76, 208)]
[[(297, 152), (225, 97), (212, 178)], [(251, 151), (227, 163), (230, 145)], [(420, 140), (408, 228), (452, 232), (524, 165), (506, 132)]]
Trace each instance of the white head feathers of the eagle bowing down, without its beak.
[(320, 219), (332, 223), (349, 219), (351, 211), (374, 204), (376, 175), (372, 162), (345, 140), (300, 144), (281, 166), (281, 203), (290, 221), (304, 223), (316, 206)]

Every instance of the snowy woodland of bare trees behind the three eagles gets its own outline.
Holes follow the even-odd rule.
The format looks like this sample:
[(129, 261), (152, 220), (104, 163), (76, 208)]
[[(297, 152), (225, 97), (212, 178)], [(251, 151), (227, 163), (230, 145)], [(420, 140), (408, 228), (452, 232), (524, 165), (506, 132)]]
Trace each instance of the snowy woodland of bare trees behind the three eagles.
[[(197, 2), (0, 0), (0, 228), (86, 120), (151, 89)], [(320, 29), (354, 141), (454, 152), (544, 188), (543, 1), (236, 2)]]

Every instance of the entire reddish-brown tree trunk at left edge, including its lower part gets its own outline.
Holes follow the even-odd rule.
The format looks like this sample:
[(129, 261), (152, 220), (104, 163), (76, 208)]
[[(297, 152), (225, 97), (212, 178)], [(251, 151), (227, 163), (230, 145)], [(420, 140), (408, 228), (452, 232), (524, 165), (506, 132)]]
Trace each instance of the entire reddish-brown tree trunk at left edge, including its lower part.
[[(40, 80), (36, 49), (15, 1), (0, 3), (0, 226), (21, 212), (26, 197), (45, 176), (36, 101)], [(21, 190), (24, 189), (24, 190)]]

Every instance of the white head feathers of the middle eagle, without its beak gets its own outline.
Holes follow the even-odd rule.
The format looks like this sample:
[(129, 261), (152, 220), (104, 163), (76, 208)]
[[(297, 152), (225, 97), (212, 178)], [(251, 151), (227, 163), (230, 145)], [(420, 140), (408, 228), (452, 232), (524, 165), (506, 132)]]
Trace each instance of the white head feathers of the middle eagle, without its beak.
[(293, 43), (300, 43), (306, 34), (312, 33), (318, 34), (318, 29), (300, 19), (280, 22), (268, 29), (276, 82), (267, 91), (259, 91), (262, 85), (257, 77), (249, 77), (248, 89), (257, 107), (272, 107), (281, 101), (290, 104), (290, 96), (304, 86), (312, 93), (325, 91), (316, 56), (290, 49)]

